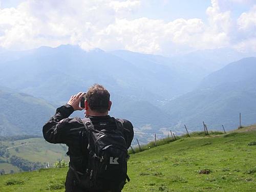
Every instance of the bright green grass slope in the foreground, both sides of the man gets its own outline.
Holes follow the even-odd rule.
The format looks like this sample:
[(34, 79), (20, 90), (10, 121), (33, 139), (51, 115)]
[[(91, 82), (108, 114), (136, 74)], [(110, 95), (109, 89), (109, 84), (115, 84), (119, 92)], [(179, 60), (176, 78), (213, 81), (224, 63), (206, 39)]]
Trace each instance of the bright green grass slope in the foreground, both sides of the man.
[[(132, 154), (131, 182), (123, 191), (256, 191), (255, 127), (182, 138)], [(64, 191), (66, 172), (50, 168), (1, 176), (0, 191)]]

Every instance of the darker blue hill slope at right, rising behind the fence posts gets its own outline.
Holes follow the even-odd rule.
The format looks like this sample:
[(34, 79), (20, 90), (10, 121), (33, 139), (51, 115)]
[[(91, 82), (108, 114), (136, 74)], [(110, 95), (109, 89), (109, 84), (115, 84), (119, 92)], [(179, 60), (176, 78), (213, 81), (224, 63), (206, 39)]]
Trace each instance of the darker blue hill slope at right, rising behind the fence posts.
[(192, 92), (169, 101), (165, 106), (173, 126), (187, 125), (190, 130), (202, 131), (202, 121), (209, 129), (227, 130), (242, 123), (256, 122), (256, 58), (232, 62), (223, 69), (207, 76)]

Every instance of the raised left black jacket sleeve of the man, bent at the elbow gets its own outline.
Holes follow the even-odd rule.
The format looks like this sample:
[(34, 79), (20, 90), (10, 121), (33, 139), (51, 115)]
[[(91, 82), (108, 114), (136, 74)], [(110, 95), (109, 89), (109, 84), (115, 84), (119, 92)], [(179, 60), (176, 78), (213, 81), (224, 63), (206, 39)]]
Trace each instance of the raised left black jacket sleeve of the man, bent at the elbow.
[(74, 112), (71, 105), (65, 104), (56, 109), (54, 116), (42, 127), (42, 133), (46, 141), (50, 143), (67, 143), (65, 124), (69, 121), (69, 116)]

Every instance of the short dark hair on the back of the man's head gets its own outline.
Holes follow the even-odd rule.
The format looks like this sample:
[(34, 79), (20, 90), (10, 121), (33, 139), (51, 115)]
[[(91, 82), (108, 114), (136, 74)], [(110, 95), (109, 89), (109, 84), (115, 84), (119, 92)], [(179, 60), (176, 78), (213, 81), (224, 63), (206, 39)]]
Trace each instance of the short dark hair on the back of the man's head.
[(109, 109), (110, 93), (100, 84), (94, 84), (87, 91), (86, 100), (92, 111), (104, 113)]

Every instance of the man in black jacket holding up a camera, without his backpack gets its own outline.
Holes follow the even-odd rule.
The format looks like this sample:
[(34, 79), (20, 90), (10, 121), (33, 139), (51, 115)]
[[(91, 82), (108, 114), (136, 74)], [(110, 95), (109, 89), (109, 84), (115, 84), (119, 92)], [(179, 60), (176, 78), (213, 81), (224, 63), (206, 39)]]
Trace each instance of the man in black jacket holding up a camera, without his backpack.
[[(89, 156), (88, 142), (86, 134), (84, 134), (85, 125), (79, 117), (68, 118), (74, 111), (83, 110), (79, 106), (83, 97), (84, 93), (81, 92), (71, 96), (67, 104), (57, 108), (55, 115), (42, 129), (44, 138), (48, 142), (65, 143), (69, 147), (67, 154), (70, 156), (70, 168), (66, 178), (66, 192), (86, 191), (79, 183), (80, 176), (84, 175), (87, 170)], [(121, 122), (126, 147), (129, 148), (134, 136), (133, 125), (128, 120), (110, 117), (108, 112), (111, 109), (111, 104), (109, 92), (103, 86), (94, 84), (86, 93), (85, 117), (90, 118), (91, 123), (95, 126), (100, 126), (100, 124), (102, 126), (108, 124), (117, 126), (116, 122)]]

